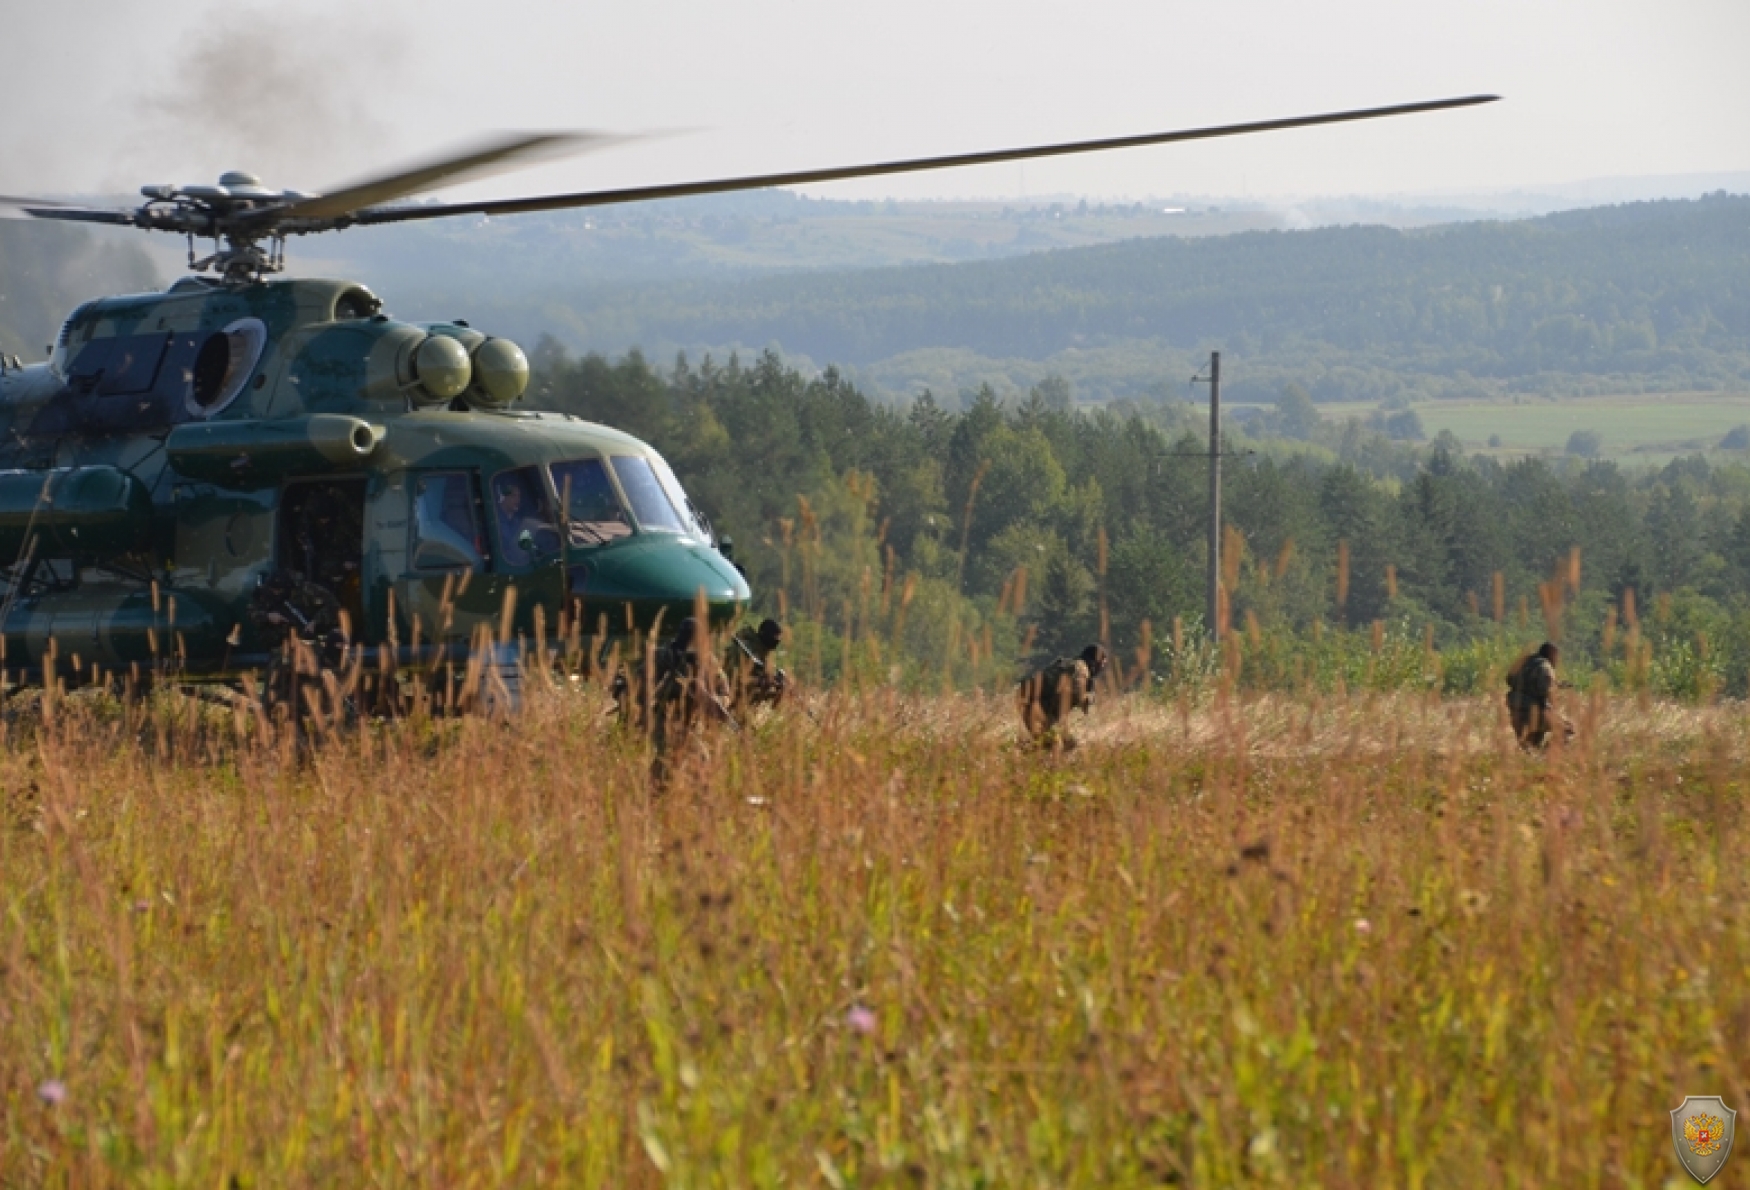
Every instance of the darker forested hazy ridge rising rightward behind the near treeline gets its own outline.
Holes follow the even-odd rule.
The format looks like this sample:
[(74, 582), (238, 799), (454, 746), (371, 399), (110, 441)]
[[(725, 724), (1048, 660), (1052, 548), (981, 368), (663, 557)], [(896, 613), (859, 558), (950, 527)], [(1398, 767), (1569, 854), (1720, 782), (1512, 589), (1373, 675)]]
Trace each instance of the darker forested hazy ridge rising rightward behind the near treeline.
[(1750, 198), (1715, 194), (1421, 231), (691, 280), (602, 294), (572, 318), (592, 343), (779, 343), (875, 371), (922, 348), (1041, 360), (1214, 345), (1250, 360), (1237, 399), (1290, 378), (1316, 401), (1676, 390), (1750, 383), (1746, 275)]

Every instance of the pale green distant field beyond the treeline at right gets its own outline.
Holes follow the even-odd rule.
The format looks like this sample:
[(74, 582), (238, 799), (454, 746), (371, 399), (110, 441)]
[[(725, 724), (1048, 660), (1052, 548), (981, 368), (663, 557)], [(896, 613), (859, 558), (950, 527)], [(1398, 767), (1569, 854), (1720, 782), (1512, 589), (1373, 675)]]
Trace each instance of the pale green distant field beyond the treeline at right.
[[(1367, 418), (1374, 404), (1323, 404), (1326, 418)], [(1510, 401), (1426, 401), (1416, 408), (1428, 438), (1452, 430), (1470, 450), (1500, 455), (1561, 453), (1575, 430), (1603, 434), (1612, 458), (1666, 462), (1712, 452), (1727, 430), (1750, 424), (1750, 394), (1671, 394), (1626, 397), (1526, 397)], [(1500, 436), (1500, 446), (1489, 439)], [(1736, 457), (1746, 457), (1734, 452)]]

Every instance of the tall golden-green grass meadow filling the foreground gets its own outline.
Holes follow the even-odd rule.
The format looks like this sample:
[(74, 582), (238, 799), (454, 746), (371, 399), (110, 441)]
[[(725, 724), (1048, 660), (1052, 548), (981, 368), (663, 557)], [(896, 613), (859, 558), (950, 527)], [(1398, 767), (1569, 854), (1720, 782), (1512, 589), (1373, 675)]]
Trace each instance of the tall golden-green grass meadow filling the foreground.
[(5, 728), (4, 1185), (1661, 1185), (1750, 1101), (1741, 705), (831, 695), (658, 796), (593, 693), (191, 709)]

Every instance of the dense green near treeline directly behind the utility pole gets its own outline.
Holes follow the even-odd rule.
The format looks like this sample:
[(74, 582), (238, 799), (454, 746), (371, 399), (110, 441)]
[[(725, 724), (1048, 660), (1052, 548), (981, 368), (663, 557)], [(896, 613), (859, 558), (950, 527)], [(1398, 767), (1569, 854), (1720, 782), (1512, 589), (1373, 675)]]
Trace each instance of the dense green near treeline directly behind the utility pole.
[[(892, 663), (964, 654), (990, 679), (1090, 639), (1174, 668), (1200, 639), (1208, 472), (1183, 413), (1078, 411), (1054, 383), (900, 410), (770, 354), (662, 373), (551, 346), (534, 401), (658, 446), (735, 539), (761, 609), (816, 625), (833, 665), (873, 626)], [(1281, 642), (1326, 632), (1430, 656), (1554, 634), (1622, 681), (1750, 688), (1750, 469), (1502, 464), (1358, 424), (1330, 438), (1227, 444), (1223, 616), (1255, 646), (1253, 677), (1274, 648), (1269, 681), (1288, 681)]]

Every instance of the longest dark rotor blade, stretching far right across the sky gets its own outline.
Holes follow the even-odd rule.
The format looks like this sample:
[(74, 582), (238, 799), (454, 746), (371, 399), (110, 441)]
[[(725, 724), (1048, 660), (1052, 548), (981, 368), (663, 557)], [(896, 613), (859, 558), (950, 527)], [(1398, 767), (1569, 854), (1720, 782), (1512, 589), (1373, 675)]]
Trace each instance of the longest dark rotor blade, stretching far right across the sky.
[[(1029, 145), (1022, 149), (996, 149), (987, 152), (962, 152), (943, 158), (914, 158), (908, 161), (878, 161), (872, 164), (850, 164), (828, 170), (796, 170), (789, 173), (760, 173), (738, 178), (712, 178), (704, 182), (670, 182), (663, 186), (635, 186), (614, 191), (583, 191), (578, 194), (548, 194), (541, 198), (500, 198), (478, 203), (434, 203), (429, 206), (376, 206), (357, 210), (354, 224), (385, 224), (413, 219), (443, 219), (448, 215), (522, 215), (537, 210), (565, 210), (570, 206), (607, 206), (612, 203), (637, 203), (658, 198), (688, 198), (693, 194), (721, 194), (724, 191), (754, 191), (770, 186), (805, 186), (810, 182), (838, 182), (844, 178), (877, 177), (884, 173), (919, 173), (924, 170), (948, 170), (970, 164), (998, 164), (1003, 161), (1029, 161), (1034, 158), (1060, 158), (1076, 152), (1101, 152), (1106, 149), (1139, 149), (1144, 145), (1167, 145), (1183, 140), (1213, 140), (1216, 136), (1244, 136), (1248, 133), (1267, 133), (1286, 128), (1311, 128), (1314, 124), (1346, 124), (1363, 119), (1382, 119), (1388, 116), (1410, 116), (1416, 112), (1440, 112), (1456, 107), (1475, 107), (1494, 103), (1498, 94), (1466, 94), (1451, 100), (1428, 100), (1421, 103), (1395, 103), (1391, 107), (1367, 107), (1348, 112), (1323, 112), (1318, 116), (1290, 116), (1286, 119), (1253, 121), (1244, 124), (1216, 124), (1211, 128), (1186, 128), (1169, 133), (1143, 133), (1139, 136), (1111, 136), (1104, 140), (1071, 140), (1055, 145)], [(296, 208), (292, 208), (296, 212)]]

